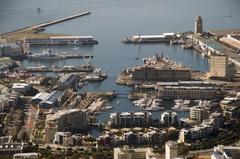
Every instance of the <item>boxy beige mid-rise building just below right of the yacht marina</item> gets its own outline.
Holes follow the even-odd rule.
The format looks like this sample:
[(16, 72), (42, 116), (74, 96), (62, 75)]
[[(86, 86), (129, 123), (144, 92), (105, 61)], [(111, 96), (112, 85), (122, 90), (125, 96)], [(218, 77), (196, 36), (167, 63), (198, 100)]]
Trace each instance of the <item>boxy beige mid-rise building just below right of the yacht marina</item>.
[(190, 119), (197, 122), (202, 122), (208, 118), (208, 111), (202, 106), (194, 106), (190, 108)]

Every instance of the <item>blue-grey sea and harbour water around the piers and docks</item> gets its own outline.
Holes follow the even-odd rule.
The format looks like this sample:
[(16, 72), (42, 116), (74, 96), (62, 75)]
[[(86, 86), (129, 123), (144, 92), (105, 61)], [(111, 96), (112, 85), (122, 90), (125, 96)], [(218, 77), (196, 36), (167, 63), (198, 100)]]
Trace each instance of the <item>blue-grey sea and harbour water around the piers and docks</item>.
[[(239, 28), (239, 0), (1, 0), (0, 33), (25, 26), (54, 20), (75, 13), (91, 11), (91, 15), (70, 20), (46, 28), (45, 32), (66, 35), (92, 35), (99, 41), (94, 46), (52, 47), (54, 53), (77, 52), (94, 56), (93, 65), (106, 70), (108, 78), (102, 83), (86, 86), (87, 91), (118, 90), (128, 93), (131, 88), (115, 84), (117, 75), (125, 68), (142, 64), (142, 58), (163, 54), (178, 63), (195, 70), (208, 71), (208, 60), (194, 50), (183, 50), (169, 44), (133, 45), (121, 40), (129, 35), (183, 32), (194, 29), (194, 18), (203, 17), (204, 30)], [(37, 9), (37, 8), (40, 8)], [(43, 47), (35, 47), (33, 53), (41, 53)], [(79, 65), (83, 59), (65, 61), (24, 61), (23, 65), (64, 66)], [(120, 101), (117, 104), (117, 101)], [(137, 111), (127, 96), (112, 103), (111, 111)], [(163, 103), (169, 109), (171, 103)], [(154, 116), (159, 118), (159, 113)], [(186, 114), (183, 114), (183, 116)], [(98, 115), (105, 122), (109, 113)]]

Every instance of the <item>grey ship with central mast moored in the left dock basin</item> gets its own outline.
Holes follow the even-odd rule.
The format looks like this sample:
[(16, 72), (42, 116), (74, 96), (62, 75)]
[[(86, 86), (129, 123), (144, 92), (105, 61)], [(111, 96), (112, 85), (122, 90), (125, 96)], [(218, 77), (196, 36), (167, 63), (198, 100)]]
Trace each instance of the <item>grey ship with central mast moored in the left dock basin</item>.
[(65, 58), (64, 55), (53, 54), (50, 49), (43, 51), (41, 54), (28, 55), (30, 60), (61, 60)]

